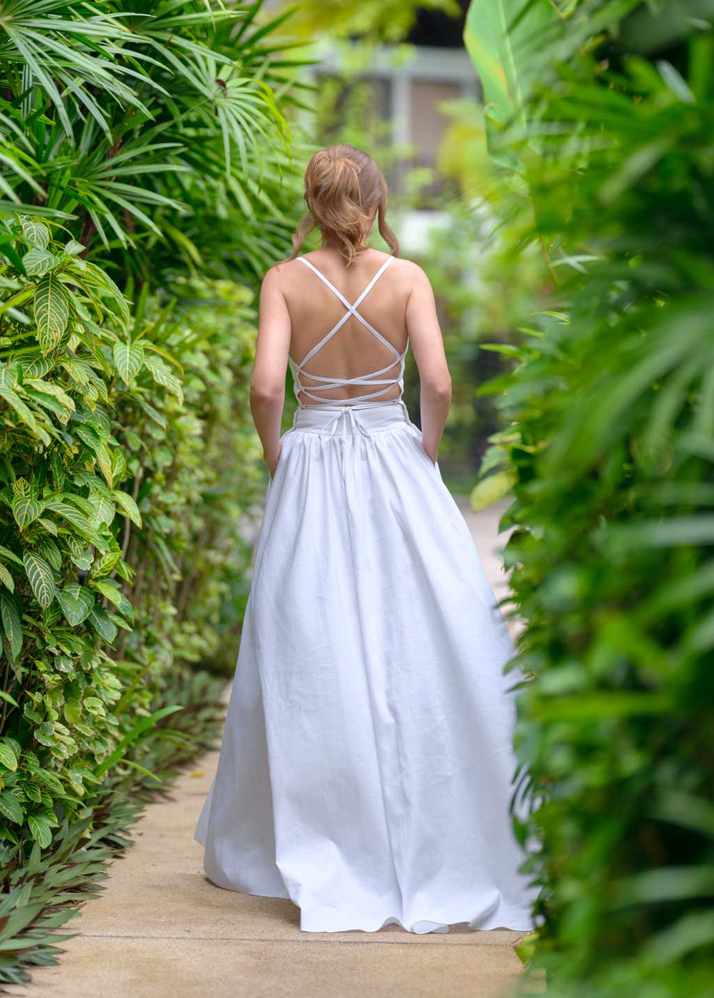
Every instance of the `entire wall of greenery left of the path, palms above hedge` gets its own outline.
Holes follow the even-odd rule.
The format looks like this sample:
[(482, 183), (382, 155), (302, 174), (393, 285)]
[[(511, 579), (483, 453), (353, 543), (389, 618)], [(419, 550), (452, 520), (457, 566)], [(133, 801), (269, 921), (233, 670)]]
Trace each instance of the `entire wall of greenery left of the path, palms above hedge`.
[(3, 8), (3, 980), (69, 917), (73, 850), (115, 842), (121, 793), (214, 726), (220, 684), (188, 664), (235, 663), (264, 489), (252, 302), (292, 228), (300, 64), (262, 7)]

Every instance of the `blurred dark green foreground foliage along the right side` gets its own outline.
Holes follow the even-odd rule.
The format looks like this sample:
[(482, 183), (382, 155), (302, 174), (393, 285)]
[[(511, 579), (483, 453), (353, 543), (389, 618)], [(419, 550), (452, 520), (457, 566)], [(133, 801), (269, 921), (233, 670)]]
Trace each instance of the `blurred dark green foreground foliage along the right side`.
[(509, 425), (485, 470), (517, 476), (519, 830), (540, 846), (533, 967), (557, 998), (711, 992), (714, 37), (698, 9), (672, 35), (659, 5), (578, 4), (549, 52), (568, 57), (523, 105), (537, 142), (511, 133), (558, 284), (488, 388)]

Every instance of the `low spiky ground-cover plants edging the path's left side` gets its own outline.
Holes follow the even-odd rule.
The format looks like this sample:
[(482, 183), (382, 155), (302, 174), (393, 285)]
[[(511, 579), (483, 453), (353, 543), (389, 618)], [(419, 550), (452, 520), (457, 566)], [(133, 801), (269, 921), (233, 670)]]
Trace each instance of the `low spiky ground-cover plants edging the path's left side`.
[[(78, 914), (78, 903), (101, 890), (107, 864), (132, 844), (127, 832), (147, 802), (166, 792), (180, 768), (213, 749), (221, 730), (216, 705), (223, 682), (205, 673), (176, 670), (165, 677), (157, 701), (170, 701), (170, 726), (156, 727), (130, 749), (127, 764), (91, 789), (72, 819), (40, 831), (27, 854), (21, 845), (0, 844), (0, 981), (26, 983), (34, 967), (56, 963), (59, 944), (74, 935), (58, 932)], [(0, 758), (3, 757), (0, 749)], [(37, 819), (38, 826), (41, 819)]]

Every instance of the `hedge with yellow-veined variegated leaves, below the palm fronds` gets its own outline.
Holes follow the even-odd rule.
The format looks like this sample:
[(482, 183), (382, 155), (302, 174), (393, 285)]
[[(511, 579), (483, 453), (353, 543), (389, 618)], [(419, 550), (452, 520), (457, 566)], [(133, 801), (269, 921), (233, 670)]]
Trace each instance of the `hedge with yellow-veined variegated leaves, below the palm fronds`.
[(264, 482), (251, 293), (185, 279), (132, 312), (58, 230), (3, 221), (0, 841), (23, 856), (91, 836), (105, 775), (146, 770), (182, 662), (235, 661)]

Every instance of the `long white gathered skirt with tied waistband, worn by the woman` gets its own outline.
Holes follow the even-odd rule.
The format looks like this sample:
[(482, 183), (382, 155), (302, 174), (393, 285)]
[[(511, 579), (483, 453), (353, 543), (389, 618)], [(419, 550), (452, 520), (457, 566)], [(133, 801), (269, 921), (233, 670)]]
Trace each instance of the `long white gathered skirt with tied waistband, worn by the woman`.
[(258, 537), (218, 771), (221, 887), (301, 928), (533, 927), (508, 812), (513, 646), (403, 403), (299, 409)]

